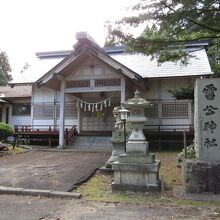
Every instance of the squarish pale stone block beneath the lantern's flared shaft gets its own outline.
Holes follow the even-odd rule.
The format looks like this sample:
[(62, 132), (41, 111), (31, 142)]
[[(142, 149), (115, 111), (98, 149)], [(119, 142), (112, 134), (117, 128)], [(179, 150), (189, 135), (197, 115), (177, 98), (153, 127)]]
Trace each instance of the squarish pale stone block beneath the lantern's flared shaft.
[(147, 156), (149, 143), (147, 141), (128, 141), (126, 154), (131, 156)]

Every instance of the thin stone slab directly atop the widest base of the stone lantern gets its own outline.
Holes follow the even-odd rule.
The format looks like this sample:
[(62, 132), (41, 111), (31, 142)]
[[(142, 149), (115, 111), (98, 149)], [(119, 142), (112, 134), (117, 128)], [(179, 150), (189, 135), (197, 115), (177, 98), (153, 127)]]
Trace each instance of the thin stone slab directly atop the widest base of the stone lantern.
[(152, 164), (155, 163), (155, 154), (149, 153), (147, 156), (129, 156), (122, 154), (119, 156), (119, 163)]

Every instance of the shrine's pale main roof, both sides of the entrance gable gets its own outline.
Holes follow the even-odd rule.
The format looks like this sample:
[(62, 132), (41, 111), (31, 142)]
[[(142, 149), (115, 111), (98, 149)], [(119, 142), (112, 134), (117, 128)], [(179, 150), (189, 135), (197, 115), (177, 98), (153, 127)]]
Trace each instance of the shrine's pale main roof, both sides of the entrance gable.
[[(212, 74), (205, 49), (198, 50), (196, 46), (195, 48), (190, 48), (190, 50), (192, 50), (192, 55), (195, 55), (196, 58), (191, 58), (187, 66), (181, 66), (179, 62), (177, 64), (165, 62), (159, 66), (156, 59), (151, 60), (150, 56), (145, 56), (143, 54), (126, 53), (122, 47), (109, 48), (106, 52), (109, 52), (109, 55), (113, 59), (143, 78), (203, 76)], [(56, 53), (58, 52), (56, 51)], [(49, 55), (50, 58), (48, 59), (35, 59), (30, 63), (30, 68), (25, 72), (14, 75), (13, 83), (36, 82), (40, 77), (63, 60), (63, 57), (51, 58), (51, 53)]]

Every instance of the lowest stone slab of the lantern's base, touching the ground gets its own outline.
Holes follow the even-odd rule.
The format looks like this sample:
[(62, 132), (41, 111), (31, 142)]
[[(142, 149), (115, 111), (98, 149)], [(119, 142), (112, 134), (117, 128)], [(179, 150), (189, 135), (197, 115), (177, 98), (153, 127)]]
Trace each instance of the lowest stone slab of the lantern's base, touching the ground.
[(137, 186), (131, 184), (115, 184), (112, 183), (112, 191), (128, 191), (128, 192), (149, 192), (149, 191), (160, 191), (160, 183), (158, 185), (148, 185), (148, 186)]

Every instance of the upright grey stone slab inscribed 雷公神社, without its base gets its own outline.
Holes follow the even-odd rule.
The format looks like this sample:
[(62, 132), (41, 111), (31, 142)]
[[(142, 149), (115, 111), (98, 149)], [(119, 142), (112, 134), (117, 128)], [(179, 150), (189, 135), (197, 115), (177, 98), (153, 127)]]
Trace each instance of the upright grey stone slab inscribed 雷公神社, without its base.
[(199, 160), (220, 162), (220, 79), (198, 79), (195, 87), (195, 149)]

